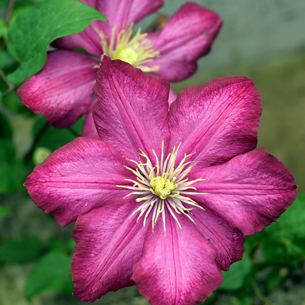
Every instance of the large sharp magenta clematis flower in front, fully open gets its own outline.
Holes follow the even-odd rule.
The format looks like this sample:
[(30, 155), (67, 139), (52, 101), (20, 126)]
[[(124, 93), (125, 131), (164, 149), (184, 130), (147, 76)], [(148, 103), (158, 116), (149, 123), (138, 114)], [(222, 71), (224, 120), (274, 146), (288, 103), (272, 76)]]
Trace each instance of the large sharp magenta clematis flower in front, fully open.
[(136, 284), (153, 305), (203, 301), (296, 196), (293, 176), (255, 149), (253, 81), (218, 78), (182, 90), (104, 56), (93, 108), (100, 139), (51, 154), (25, 187), (66, 226), (76, 220), (74, 295), (94, 301)]

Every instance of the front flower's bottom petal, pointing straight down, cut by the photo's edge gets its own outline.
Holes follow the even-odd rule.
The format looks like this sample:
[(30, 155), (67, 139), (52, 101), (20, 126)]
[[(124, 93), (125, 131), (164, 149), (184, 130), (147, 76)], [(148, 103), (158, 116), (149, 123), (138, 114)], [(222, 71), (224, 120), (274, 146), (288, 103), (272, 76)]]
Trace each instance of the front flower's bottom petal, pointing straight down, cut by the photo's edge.
[(134, 265), (132, 279), (152, 305), (193, 305), (222, 283), (214, 248), (189, 220), (181, 218), (181, 226), (167, 214), (166, 235), (161, 221), (147, 231)]

